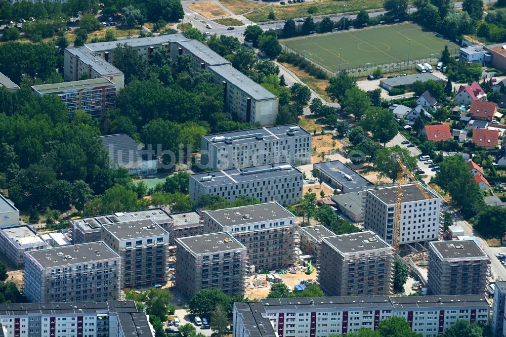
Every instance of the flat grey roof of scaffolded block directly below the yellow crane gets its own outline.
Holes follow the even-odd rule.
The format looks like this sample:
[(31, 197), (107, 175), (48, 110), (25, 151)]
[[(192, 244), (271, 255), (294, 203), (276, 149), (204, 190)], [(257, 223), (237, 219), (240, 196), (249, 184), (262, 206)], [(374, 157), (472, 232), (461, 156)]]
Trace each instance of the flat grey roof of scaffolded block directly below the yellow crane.
[(322, 241), (342, 254), (392, 248), (391, 245), (371, 231), (326, 237)]

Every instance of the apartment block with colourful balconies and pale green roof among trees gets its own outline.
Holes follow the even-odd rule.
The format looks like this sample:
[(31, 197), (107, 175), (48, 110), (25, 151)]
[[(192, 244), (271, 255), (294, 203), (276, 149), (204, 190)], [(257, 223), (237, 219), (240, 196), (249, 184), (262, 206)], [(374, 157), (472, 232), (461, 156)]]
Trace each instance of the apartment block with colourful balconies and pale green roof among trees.
[(116, 107), (116, 85), (107, 78), (86, 79), (32, 86), (35, 96), (56, 95), (68, 108), (70, 117), (77, 110), (100, 118), (109, 109)]

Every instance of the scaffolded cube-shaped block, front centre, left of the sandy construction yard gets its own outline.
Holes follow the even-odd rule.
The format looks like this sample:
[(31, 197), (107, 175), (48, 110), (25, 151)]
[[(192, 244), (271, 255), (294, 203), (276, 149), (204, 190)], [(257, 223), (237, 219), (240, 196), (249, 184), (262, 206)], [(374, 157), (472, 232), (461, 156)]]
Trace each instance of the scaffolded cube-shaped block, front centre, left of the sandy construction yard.
[(191, 299), (201, 289), (218, 288), (243, 295), (247, 274), (246, 247), (229, 233), (178, 238), (176, 286)]

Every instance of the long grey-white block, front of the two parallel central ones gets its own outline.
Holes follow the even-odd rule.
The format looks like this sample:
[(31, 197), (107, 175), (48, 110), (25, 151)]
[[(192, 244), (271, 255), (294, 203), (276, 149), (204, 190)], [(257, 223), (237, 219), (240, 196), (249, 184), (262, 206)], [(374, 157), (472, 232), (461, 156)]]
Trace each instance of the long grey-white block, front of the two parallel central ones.
[(190, 199), (197, 201), (207, 194), (233, 201), (243, 194), (263, 202), (277, 201), (287, 205), (302, 198), (303, 183), (302, 171), (287, 162), (230, 168), (191, 175)]

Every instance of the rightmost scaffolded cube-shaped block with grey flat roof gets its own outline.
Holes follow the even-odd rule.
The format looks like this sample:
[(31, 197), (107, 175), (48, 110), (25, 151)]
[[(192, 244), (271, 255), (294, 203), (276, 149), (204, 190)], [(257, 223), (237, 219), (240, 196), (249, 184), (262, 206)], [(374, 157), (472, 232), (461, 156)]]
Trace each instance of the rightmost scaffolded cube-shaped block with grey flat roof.
[(484, 294), (490, 263), (474, 240), (429, 242), (429, 292), (435, 296)]

